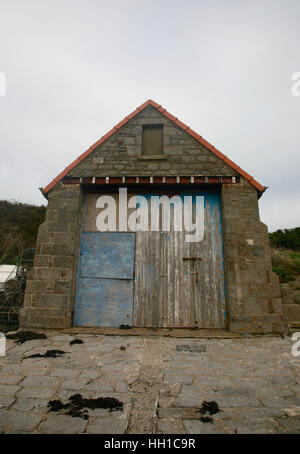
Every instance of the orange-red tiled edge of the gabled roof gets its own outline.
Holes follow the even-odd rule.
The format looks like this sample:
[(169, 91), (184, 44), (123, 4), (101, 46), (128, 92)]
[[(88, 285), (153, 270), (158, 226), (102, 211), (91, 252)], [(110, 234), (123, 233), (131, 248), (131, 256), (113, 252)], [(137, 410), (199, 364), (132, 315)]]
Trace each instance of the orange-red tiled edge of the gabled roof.
[(236, 165), (231, 159), (229, 159), (227, 156), (225, 156), (223, 153), (221, 153), (217, 148), (215, 148), (213, 145), (211, 145), (209, 142), (207, 142), (202, 136), (197, 134), (195, 131), (193, 131), (189, 126), (186, 124), (182, 123), (182, 121), (178, 120), (178, 118), (174, 117), (174, 115), (170, 114), (166, 109), (164, 109), (161, 105), (157, 104), (156, 102), (152, 101), (151, 99), (148, 99), (148, 101), (144, 102), (141, 106), (137, 107), (136, 110), (131, 112), (131, 114), (127, 115), (120, 123), (118, 123), (116, 126), (114, 126), (110, 131), (108, 131), (101, 139), (97, 140), (90, 148), (88, 148), (84, 153), (82, 153), (80, 156), (78, 156), (75, 161), (73, 161), (68, 167), (66, 167), (57, 177), (55, 177), (47, 186), (45, 186), (42, 189), (42, 192), (44, 195), (46, 195), (60, 180), (62, 180), (69, 172), (72, 170), (74, 167), (77, 166), (83, 159), (85, 159), (89, 154), (91, 154), (95, 148), (97, 148), (99, 145), (101, 145), (103, 142), (105, 142), (107, 139), (109, 139), (113, 134), (115, 134), (122, 126), (124, 126), (129, 120), (134, 118), (136, 115), (138, 115), (143, 109), (145, 109), (148, 106), (154, 107), (158, 112), (163, 114), (165, 117), (169, 118), (169, 120), (173, 121), (179, 128), (183, 129), (187, 134), (192, 136), (194, 139), (196, 139), (199, 143), (205, 146), (208, 150), (210, 150), (214, 155), (216, 155), (218, 158), (222, 159), (228, 166), (230, 166), (232, 169), (234, 169), (237, 173), (242, 175), (246, 180), (249, 181), (252, 186), (254, 186), (260, 193), (264, 192), (266, 189), (264, 186), (262, 186), (258, 181), (256, 181), (251, 175), (249, 175), (247, 172), (245, 172), (241, 167)]

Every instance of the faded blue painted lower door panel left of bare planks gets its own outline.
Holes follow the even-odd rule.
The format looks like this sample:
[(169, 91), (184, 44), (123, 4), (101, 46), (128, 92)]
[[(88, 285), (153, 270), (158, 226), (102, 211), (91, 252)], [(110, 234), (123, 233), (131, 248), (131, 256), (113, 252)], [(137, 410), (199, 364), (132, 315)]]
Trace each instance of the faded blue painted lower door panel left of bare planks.
[(134, 233), (83, 232), (75, 326), (132, 325)]

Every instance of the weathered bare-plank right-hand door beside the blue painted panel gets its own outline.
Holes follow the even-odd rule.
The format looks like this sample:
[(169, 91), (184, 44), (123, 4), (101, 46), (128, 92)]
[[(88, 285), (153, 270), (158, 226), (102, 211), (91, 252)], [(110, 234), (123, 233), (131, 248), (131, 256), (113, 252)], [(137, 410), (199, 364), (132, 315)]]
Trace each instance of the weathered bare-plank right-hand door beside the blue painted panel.
[(220, 199), (196, 195), (204, 197), (201, 241), (187, 242), (186, 231), (172, 228), (136, 232), (134, 326), (225, 327)]

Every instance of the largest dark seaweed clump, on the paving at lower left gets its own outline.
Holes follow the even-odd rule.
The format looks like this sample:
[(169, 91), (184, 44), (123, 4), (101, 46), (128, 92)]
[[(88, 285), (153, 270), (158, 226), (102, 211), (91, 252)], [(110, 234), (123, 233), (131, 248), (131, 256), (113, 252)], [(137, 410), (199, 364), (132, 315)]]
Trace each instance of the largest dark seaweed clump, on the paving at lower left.
[(122, 411), (123, 402), (114, 397), (98, 397), (97, 399), (85, 399), (81, 394), (73, 394), (69, 397), (69, 402), (63, 404), (60, 400), (50, 400), (48, 402), (49, 411), (67, 410), (66, 415), (73, 418), (79, 417), (88, 419), (87, 408), (95, 410), (96, 408), (105, 408), (109, 411)]

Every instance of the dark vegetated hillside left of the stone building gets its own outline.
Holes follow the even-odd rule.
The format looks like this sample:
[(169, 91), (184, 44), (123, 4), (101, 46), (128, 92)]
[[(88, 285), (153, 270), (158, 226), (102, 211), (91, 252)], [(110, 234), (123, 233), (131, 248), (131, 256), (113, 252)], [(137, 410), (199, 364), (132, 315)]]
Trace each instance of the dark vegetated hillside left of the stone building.
[(0, 264), (15, 264), (27, 248), (34, 248), (45, 206), (0, 200)]

